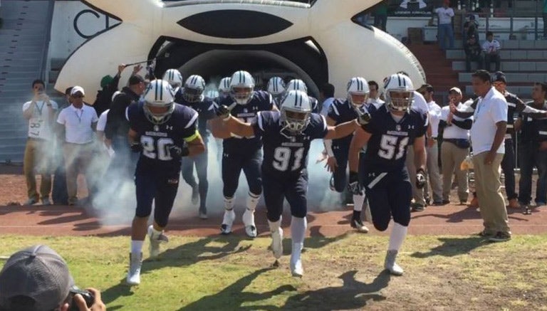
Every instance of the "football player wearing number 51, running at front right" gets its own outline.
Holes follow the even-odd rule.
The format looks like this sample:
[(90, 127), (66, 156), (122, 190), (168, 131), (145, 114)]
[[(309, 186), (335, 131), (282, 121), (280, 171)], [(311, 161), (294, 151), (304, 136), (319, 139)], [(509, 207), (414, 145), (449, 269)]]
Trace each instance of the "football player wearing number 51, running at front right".
[[(405, 75), (391, 75), (385, 80), (385, 104), (370, 113), (370, 122), (355, 131), (350, 144), (350, 189), (365, 187), (375, 228), (385, 231), (393, 217), (385, 268), (402, 275), (395, 263), (397, 253), (410, 223), (412, 186), (405, 167), (407, 147), (412, 145), (417, 167), (416, 185), (425, 184), (425, 138), (428, 120), (424, 112), (412, 105), (414, 87)], [(365, 154), (360, 149), (367, 146)], [(362, 162), (361, 164), (359, 162)]]

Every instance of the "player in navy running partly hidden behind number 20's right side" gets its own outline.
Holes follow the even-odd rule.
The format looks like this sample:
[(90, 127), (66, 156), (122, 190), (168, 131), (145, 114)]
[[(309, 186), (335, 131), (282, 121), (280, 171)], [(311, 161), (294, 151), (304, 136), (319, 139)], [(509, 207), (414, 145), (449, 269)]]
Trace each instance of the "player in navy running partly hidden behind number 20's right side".
[[(215, 102), (203, 95), (204, 90), (205, 80), (199, 75), (190, 75), (184, 83), (180, 97), (175, 95), (174, 102), (191, 107), (198, 112), (197, 128), (199, 135), (202, 136), (203, 142), (207, 146), (207, 121), (217, 117), (217, 113), (215, 112)], [(205, 152), (196, 157), (187, 157), (182, 161), (182, 178), (192, 187), (192, 203), (197, 204), (199, 200), (199, 218), (202, 219), (207, 219), (207, 190), (209, 189), (207, 159), (207, 149), (205, 149)], [(194, 166), (196, 167), (199, 185), (194, 177)]]

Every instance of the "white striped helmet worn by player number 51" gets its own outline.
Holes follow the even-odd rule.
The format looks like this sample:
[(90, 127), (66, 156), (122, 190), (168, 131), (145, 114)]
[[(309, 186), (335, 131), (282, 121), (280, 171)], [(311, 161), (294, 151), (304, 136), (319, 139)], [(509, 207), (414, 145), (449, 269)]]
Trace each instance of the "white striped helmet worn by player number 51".
[(407, 75), (395, 73), (384, 82), (385, 104), (394, 111), (408, 111), (414, 100), (414, 85)]

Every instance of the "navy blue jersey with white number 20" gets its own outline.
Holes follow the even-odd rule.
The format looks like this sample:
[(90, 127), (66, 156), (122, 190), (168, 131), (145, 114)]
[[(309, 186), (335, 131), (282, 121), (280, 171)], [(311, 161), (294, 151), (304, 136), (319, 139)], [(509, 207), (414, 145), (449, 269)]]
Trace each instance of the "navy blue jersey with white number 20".
[(182, 147), (184, 141), (197, 137), (197, 112), (192, 108), (174, 104), (174, 111), (167, 122), (155, 125), (150, 122), (142, 104), (130, 105), (127, 109), (129, 124), (137, 132), (142, 144), (137, 169), (159, 169), (163, 172), (180, 170), (180, 159), (173, 159), (168, 148), (171, 145)]

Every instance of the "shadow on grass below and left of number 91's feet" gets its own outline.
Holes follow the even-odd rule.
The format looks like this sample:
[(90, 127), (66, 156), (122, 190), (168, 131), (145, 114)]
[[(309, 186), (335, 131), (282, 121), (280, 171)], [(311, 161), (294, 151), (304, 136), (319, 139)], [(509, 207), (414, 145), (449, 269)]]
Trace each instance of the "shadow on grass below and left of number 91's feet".
[[(256, 302), (261, 300), (268, 300), (273, 296), (281, 295), (283, 292), (296, 291), (292, 285), (281, 285), (275, 290), (269, 292), (246, 292), (244, 291), (251, 282), (256, 279), (262, 273), (271, 270), (271, 268), (264, 268), (254, 271), (244, 278), (240, 278), (234, 284), (229, 285), (224, 290), (217, 292), (214, 295), (202, 297), (202, 299), (192, 302), (179, 309), (179, 311), (188, 310), (279, 310), (279, 307), (273, 305), (261, 305), (261, 306), (244, 306), (246, 302)], [(224, 305), (224, 307), (221, 307)]]

